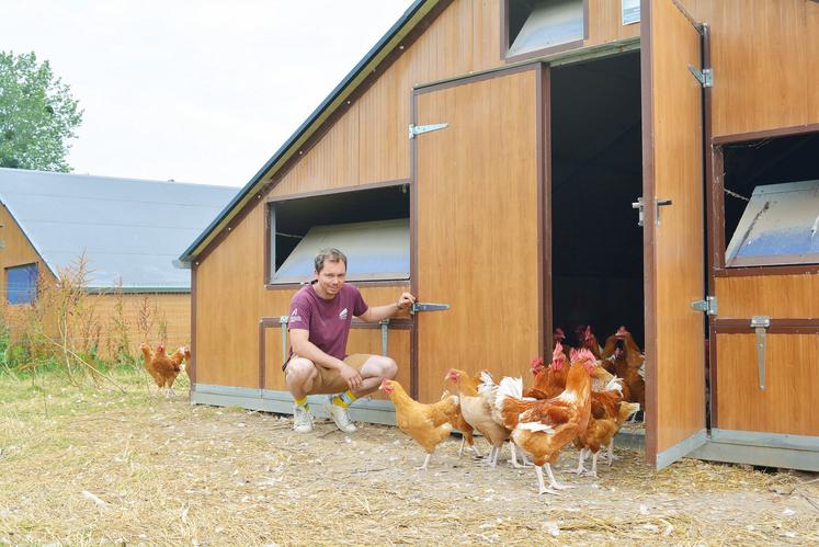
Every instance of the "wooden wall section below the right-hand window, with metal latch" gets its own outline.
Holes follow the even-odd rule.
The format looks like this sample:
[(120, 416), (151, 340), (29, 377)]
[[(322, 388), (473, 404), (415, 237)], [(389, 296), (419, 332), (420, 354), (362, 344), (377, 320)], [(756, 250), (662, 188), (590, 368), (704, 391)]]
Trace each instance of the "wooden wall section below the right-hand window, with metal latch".
[[(719, 319), (753, 316), (806, 319), (819, 315), (819, 275), (718, 277)], [(815, 399), (819, 394), (819, 337), (769, 333), (765, 384), (759, 388), (757, 335), (716, 337), (716, 424), (724, 430), (819, 435)]]

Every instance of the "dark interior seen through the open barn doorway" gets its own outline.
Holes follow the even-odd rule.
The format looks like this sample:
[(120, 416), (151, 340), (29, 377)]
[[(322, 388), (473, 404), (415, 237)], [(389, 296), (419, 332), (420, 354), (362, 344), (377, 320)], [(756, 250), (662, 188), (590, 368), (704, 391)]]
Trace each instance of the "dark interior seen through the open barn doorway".
[(639, 53), (551, 69), (553, 319), (645, 347)]

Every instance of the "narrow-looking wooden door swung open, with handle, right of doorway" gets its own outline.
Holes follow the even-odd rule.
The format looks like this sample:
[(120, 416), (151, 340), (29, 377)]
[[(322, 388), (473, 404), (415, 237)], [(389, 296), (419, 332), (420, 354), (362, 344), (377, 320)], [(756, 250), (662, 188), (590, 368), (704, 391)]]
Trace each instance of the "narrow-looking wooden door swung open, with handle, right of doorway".
[[(705, 442), (702, 35), (673, 0), (642, 2), (646, 457)], [(670, 201), (670, 205), (659, 205)]]

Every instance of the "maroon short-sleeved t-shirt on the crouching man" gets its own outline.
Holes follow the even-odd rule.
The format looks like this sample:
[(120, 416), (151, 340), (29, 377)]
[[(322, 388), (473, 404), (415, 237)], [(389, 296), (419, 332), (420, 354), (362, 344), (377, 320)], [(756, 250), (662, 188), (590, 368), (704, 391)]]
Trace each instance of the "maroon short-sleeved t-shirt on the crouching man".
[[(309, 331), (308, 340), (319, 350), (343, 360), (346, 357), (346, 339), (353, 316), (361, 316), (367, 309), (367, 304), (353, 285), (343, 284), (341, 290), (329, 300), (316, 294), (312, 285), (305, 285), (291, 300), (291, 319), (287, 329)], [(292, 356), (293, 346), (291, 346), (287, 361)]]

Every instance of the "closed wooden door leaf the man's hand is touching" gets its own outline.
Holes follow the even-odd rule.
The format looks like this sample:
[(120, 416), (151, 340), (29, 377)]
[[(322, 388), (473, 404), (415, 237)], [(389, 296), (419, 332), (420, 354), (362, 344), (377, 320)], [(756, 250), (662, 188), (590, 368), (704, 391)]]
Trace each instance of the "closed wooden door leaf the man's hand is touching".
[(441, 397), (450, 367), (528, 374), (542, 352), (544, 210), (539, 66), (414, 94), (412, 285), (446, 311), (416, 315), (413, 391)]

